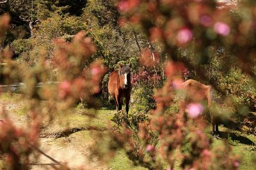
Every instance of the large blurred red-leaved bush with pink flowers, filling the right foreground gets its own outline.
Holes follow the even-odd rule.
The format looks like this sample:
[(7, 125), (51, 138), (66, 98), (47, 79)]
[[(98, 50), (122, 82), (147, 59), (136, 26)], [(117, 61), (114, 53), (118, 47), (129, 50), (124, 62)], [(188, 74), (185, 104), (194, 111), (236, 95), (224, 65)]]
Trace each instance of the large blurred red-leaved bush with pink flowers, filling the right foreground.
[[(230, 146), (224, 142), (219, 147), (212, 147), (211, 136), (204, 132), (207, 123), (205, 114), (211, 108), (203, 108), (200, 103), (180, 101), (178, 113), (166, 112), (182, 84), (180, 75), (185, 66), (205, 78), (204, 71), (200, 67), (192, 68), (188, 59), (177, 62), (180, 48), (193, 46), (193, 57), (200, 64), (209, 60), (207, 48), (210, 46), (224, 43), (227, 46), (241, 46), (241, 41), (236, 39), (248, 36), (241, 29), (237, 29), (235, 25), (238, 22), (234, 18), (227, 17), (230, 16), (230, 9), (220, 8), (215, 1), (192, 0), (122, 0), (118, 3), (118, 9), (127, 17), (126, 20), (121, 18), (123, 24), (129, 22), (140, 25), (148, 39), (160, 43), (173, 61), (166, 64), (166, 81), (154, 96), (156, 109), (151, 111), (150, 120), (139, 121), (136, 131), (131, 122), (124, 122), (120, 132), (111, 134), (115, 143), (124, 148), (134, 162), (149, 169), (164, 169), (161, 164), (163, 162), (168, 164), (168, 169), (175, 166), (182, 169), (238, 169), (238, 157), (232, 153)], [(242, 46), (245, 45), (244, 42)], [(246, 52), (252, 52), (252, 48)], [(148, 58), (152, 57), (147, 50), (144, 54)], [(242, 59), (246, 56), (238, 57)], [(151, 66), (150, 60), (143, 58), (141, 62)], [(248, 66), (246, 62), (243, 63)], [(247, 70), (242, 67), (249, 73), (248, 67), (246, 68)], [(132, 82), (136, 85), (138, 80), (150, 80), (143, 78), (144, 74), (147, 72), (135, 75)], [(153, 140), (156, 138), (158, 142)]]

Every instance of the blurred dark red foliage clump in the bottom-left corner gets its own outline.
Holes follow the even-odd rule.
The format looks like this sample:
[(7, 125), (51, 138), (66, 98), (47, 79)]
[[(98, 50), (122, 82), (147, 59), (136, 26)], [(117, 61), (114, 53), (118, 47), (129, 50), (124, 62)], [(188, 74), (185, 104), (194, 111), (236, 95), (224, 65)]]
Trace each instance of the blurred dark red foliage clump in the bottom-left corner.
[[(6, 114), (6, 113), (1, 113)], [(8, 118), (0, 122), (0, 154), (5, 155), (4, 160), (8, 169), (29, 169), (29, 155), (37, 146), (39, 124), (33, 121), (31, 131), (24, 131), (15, 127)]]

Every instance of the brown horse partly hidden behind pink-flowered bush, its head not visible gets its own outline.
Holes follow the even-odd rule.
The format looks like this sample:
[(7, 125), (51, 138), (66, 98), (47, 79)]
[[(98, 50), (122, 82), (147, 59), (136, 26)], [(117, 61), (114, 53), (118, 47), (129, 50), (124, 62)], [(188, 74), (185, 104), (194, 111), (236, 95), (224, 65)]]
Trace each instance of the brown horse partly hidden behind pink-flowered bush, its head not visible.
[(185, 104), (193, 103), (193, 102), (202, 102), (207, 101), (211, 124), (212, 124), (212, 135), (219, 135), (218, 129), (218, 119), (214, 117), (211, 111), (211, 102), (212, 102), (212, 87), (211, 85), (204, 85), (196, 80), (187, 80), (182, 83), (182, 90), (185, 91), (186, 97), (184, 99)]

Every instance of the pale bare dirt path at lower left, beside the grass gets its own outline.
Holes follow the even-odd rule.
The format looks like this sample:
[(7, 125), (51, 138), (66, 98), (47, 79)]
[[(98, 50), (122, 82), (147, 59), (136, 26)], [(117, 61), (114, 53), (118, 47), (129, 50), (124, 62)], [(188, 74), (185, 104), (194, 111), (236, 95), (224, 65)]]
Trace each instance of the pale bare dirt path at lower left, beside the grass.
[[(3, 106), (4, 101), (0, 101), (0, 106)], [(18, 104), (5, 103), (5, 108), (8, 113), (8, 117), (17, 127), (26, 128), (26, 124), (29, 120), (25, 115), (17, 115), (15, 110), (19, 109)], [(0, 120), (4, 120), (3, 115), (0, 115)], [(54, 128), (54, 126), (52, 126)], [(48, 129), (49, 130), (49, 129)], [(52, 129), (54, 131), (54, 129)], [(40, 138), (39, 150), (44, 152), (52, 159), (60, 162), (61, 164), (67, 164), (72, 169), (78, 169), (83, 167), (84, 169), (107, 169), (102, 166), (97, 159), (91, 159), (90, 146), (93, 144), (93, 139), (86, 139), (83, 141), (84, 133), (87, 132), (74, 132), (70, 136), (61, 138)], [(44, 136), (47, 136), (47, 134)], [(58, 167), (56, 162), (52, 161), (45, 155), (35, 152), (35, 155), (31, 156), (31, 169), (53, 169), (52, 166)]]

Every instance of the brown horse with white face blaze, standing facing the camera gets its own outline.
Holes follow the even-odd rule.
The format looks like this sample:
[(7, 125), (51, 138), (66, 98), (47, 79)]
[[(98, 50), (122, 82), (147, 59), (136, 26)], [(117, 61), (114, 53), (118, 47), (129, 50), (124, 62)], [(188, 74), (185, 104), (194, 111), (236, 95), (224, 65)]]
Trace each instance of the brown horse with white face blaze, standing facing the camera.
[(115, 99), (116, 111), (122, 110), (122, 97), (125, 97), (125, 111), (128, 117), (129, 101), (131, 97), (131, 64), (120, 66), (109, 75), (108, 92)]

